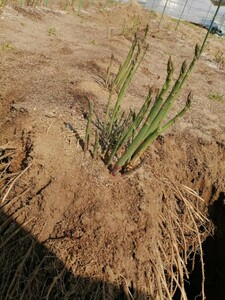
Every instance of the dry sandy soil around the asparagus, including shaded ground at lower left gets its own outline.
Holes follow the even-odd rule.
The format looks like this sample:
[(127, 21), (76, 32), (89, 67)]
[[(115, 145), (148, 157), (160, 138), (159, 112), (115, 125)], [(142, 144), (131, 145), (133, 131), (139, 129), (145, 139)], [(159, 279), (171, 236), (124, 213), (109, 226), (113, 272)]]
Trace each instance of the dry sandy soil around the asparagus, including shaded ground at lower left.
[[(176, 251), (170, 240), (178, 242), (184, 261), (188, 256), (187, 272), (194, 250), (201, 252), (192, 243), (196, 228), (188, 229), (190, 219), (181, 212), (183, 184), (204, 199), (185, 194), (214, 222), (214, 236), (203, 243), (205, 290), (207, 299), (223, 299), (225, 64), (216, 55), (224, 54), (225, 39), (210, 35), (173, 109), (193, 91), (185, 117), (152, 144), (139, 170), (113, 177), (79, 143), (87, 99), (100, 117), (104, 112), (111, 53), (119, 66), (136, 28), (149, 24), (149, 50), (123, 104), (136, 109), (150, 86), (164, 82), (169, 56), (178, 74), (206, 31), (188, 23), (175, 31), (176, 22), (166, 17), (159, 27), (159, 16), (135, 3), (85, 3), (80, 16), (59, 8), (0, 9), (0, 145), (7, 154), (1, 164), (9, 164), (9, 177), (1, 181), (0, 298), (202, 299), (198, 255), (191, 277), (184, 271), (177, 277), (185, 278), (187, 296), (165, 287), (170, 281), (173, 290), (171, 274), (180, 270), (179, 263), (171, 263), (171, 274), (166, 269)], [(204, 240), (212, 225), (197, 217), (196, 224)]]

